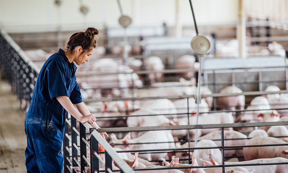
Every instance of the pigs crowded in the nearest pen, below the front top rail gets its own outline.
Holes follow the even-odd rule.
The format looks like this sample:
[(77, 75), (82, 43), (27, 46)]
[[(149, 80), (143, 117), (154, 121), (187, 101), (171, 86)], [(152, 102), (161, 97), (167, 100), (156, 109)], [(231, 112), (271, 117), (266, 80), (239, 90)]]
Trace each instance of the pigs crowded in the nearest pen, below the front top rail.
[[(233, 145), (253, 145), (253, 144), (286, 144), (286, 146), (264, 146), (264, 147), (243, 147), (238, 150), (224, 150), (225, 157), (237, 157), (244, 155), (245, 161), (239, 161), (236, 159), (230, 159), (225, 162), (225, 165), (234, 165), (234, 164), (257, 164), (257, 163), (284, 163), (288, 162), (288, 143), (284, 140), (287, 138), (282, 137), (281, 139), (275, 137), (268, 137), (268, 135), (280, 136), (277, 131), (288, 130), (285, 126), (274, 126), (270, 127), (268, 133), (262, 129), (256, 129), (252, 131), (247, 137), (246, 135), (238, 131), (226, 131), (224, 130), (224, 139), (236, 139), (236, 140), (224, 140), (224, 146), (233, 146)], [(221, 151), (219, 148), (215, 149), (190, 149), (189, 147), (194, 147), (194, 142), (186, 142), (180, 146), (180, 149), (183, 150), (177, 152), (176, 154), (171, 150), (164, 152), (136, 152), (134, 155), (131, 153), (121, 153), (123, 150), (149, 150), (149, 149), (175, 149), (177, 148), (177, 143), (174, 143), (174, 138), (170, 131), (148, 131), (143, 135), (131, 139), (130, 132), (123, 138), (117, 139), (115, 134), (110, 134), (111, 140), (110, 144), (114, 146), (115, 151), (118, 151), (118, 156), (124, 159), (131, 168), (165, 168), (165, 167), (182, 167), (175, 168), (175, 170), (143, 170), (135, 172), (163, 172), (163, 173), (221, 173), (222, 168), (191, 168), (192, 166), (207, 166), (207, 165), (221, 165)], [(208, 133), (199, 138), (199, 141), (196, 144), (198, 147), (217, 147), (221, 146), (221, 131), (214, 131)], [(149, 143), (153, 144), (149, 144)], [(162, 143), (158, 143), (162, 142)], [(163, 143), (166, 142), (166, 143)], [(135, 144), (142, 143), (142, 144)], [(178, 146), (179, 147), (179, 146)], [(101, 147), (100, 147), (101, 148)], [(103, 148), (99, 151), (104, 151)], [(177, 151), (177, 150), (174, 150)], [(179, 150), (178, 150), (179, 151)], [(90, 160), (90, 150), (87, 150), (87, 159)], [(105, 154), (100, 154), (101, 159), (105, 161)], [(172, 158), (171, 158), (172, 157)], [(192, 163), (188, 164), (191, 158)], [(167, 159), (172, 159), (169, 163)], [(155, 162), (161, 161), (161, 162)], [(184, 162), (183, 162), (184, 161)], [(186, 163), (187, 162), (187, 163)], [(187, 167), (187, 168), (185, 168)], [(80, 172), (79, 167), (73, 167), (73, 169)], [(112, 163), (112, 169), (118, 170), (119, 166), (117, 163)], [(105, 166), (100, 162), (100, 170), (105, 170)], [(285, 173), (288, 170), (288, 164), (279, 164), (279, 165), (263, 165), (263, 166), (232, 166), (225, 167), (226, 173), (238, 172), (238, 173)], [(90, 172), (90, 168), (86, 167), (85, 172)]]

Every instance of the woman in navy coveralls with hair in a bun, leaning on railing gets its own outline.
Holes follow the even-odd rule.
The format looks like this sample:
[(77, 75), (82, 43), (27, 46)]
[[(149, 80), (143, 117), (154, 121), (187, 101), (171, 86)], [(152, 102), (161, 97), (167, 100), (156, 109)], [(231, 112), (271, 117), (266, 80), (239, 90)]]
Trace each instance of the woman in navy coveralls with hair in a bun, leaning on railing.
[[(41, 68), (25, 118), (27, 172), (62, 172), (61, 147), (67, 112), (81, 123), (100, 128), (82, 102), (73, 63), (82, 65), (89, 61), (98, 33), (97, 29), (88, 28), (73, 34), (67, 43), (68, 50), (59, 49)], [(101, 135), (108, 137), (107, 133)]]

